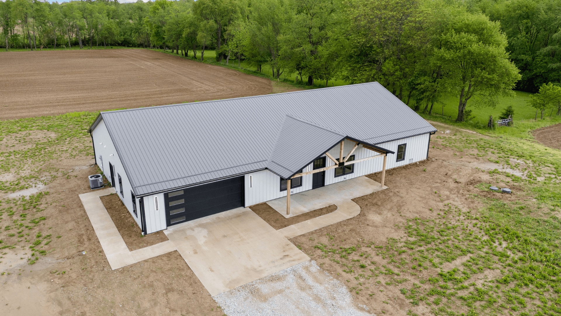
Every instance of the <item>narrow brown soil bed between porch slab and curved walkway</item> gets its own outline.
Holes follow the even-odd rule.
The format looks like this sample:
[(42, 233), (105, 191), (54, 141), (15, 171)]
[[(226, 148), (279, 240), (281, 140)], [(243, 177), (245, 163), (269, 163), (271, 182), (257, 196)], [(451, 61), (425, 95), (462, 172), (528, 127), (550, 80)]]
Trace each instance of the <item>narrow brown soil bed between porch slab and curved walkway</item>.
[(291, 218), (284, 218), (284, 216), (280, 215), (275, 209), (273, 209), (273, 207), (270, 207), (269, 204), (266, 203), (251, 206), (250, 209), (254, 211), (255, 214), (259, 215), (259, 217), (262, 218), (265, 222), (267, 222), (267, 224), (271, 225), (278, 231), (281, 228), (304, 222), (305, 220), (316, 218), (321, 215), (329, 214), (337, 210), (337, 206), (325, 206), (321, 209), (292, 216)]

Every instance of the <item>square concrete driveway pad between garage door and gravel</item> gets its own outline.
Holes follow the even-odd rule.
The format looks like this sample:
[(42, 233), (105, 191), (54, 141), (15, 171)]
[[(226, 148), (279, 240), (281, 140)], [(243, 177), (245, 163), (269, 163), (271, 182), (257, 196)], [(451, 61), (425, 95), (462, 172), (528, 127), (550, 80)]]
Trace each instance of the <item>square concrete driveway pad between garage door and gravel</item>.
[(164, 233), (212, 296), (310, 259), (247, 208)]

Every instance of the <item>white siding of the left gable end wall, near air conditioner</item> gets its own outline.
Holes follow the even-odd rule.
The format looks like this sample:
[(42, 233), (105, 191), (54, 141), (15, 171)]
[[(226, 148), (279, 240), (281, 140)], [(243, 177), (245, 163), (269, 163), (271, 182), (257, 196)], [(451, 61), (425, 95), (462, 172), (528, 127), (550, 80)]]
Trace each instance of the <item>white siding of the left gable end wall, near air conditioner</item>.
[[(95, 139), (94, 143), (94, 150), (95, 150), (95, 162), (98, 164), (99, 168), (102, 169), (103, 174), (105, 177), (111, 182), (111, 170), (109, 169), (109, 162), (113, 165), (115, 170), (115, 183), (113, 183), (113, 187), (115, 187), (116, 194), (121, 198), (123, 204), (127, 207), (129, 213), (131, 213), (132, 218), (136, 221), (136, 224), (139, 227), (142, 227), (140, 222), (140, 203), (139, 199), (136, 199), (136, 215), (132, 211), (132, 186), (128, 180), (127, 174), (125, 173), (125, 168), (121, 163), (121, 159), (119, 159), (119, 154), (117, 154), (117, 150), (113, 145), (113, 141), (111, 140), (111, 136), (109, 136), (109, 132), (107, 127), (105, 127), (105, 123), (103, 120), (99, 122), (99, 124), (95, 127), (95, 129), (91, 132), (93, 138)], [(121, 195), (119, 189), (119, 175), (121, 175), (121, 182), (123, 186), (123, 195)], [(163, 198), (162, 198), (162, 205), (163, 205)], [(164, 219), (165, 225), (165, 219)], [(165, 228), (165, 227), (164, 227)]]

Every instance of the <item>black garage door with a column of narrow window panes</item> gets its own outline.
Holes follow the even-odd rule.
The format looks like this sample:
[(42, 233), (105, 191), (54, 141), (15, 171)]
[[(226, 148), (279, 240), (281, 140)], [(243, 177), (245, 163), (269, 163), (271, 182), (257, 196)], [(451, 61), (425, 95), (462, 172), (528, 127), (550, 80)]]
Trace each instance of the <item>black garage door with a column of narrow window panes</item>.
[(168, 226), (243, 206), (243, 177), (165, 193)]

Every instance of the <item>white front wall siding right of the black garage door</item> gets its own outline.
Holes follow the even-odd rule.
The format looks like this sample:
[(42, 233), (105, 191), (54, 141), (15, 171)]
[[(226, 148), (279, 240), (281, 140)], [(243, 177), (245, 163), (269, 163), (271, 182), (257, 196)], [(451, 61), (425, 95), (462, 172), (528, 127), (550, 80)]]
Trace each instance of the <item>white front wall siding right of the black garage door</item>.
[[(388, 154), (386, 161), (386, 169), (396, 168), (413, 162), (425, 160), (427, 158), (427, 151), (429, 150), (430, 134), (421, 134), (407, 138), (398, 139), (397, 141), (385, 142), (377, 144), (378, 146), (396, 152), (396, 154)], [(397, 147), (401, 144), (407, 144), (405, 151), (405, 159), (396, 161)], [(346, 156), (355, 146), (354, 142), (345, 141), (343, 148), (343, 155)], [(339, 146), (335, 146), (329, 151), (335, 159), (339, 158)], [(368, 150), (362, 146), (353, 152), (355, 160), (363, 159), (366, 157), (378, 155), (377, 152)], [(326, 157), (326, 166), (333, 166), (334, 162)], [(342, 175), (335, 178), (335, 169), (325, 171), (325, 185), (341, 182), (344, 180), (362, 177), (363, 175), (379, 172), (382, 170), (384, 163), (383, 156), (373, 158), (366, 161), (357, 162), (355, 170), (351, 174)], [(303, 171), (311, 171), (312, 165), (306, 166)], [(250, 179), (251, 177), (251, 179)], [(302, 177), (302, 186), (291, 189), (291, 194), (307, 191), (312, 188), (312, 175), (304, 175)], [(286, 196), (286, 191), (280, 191), (280, 177), (269, 170), (261, 170), (254, 173), (245, 175), (245, 206), (255, 205), (266, 201), (274, 200), (275, 198)]]

